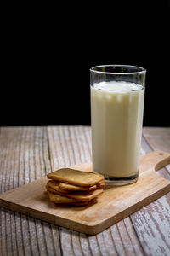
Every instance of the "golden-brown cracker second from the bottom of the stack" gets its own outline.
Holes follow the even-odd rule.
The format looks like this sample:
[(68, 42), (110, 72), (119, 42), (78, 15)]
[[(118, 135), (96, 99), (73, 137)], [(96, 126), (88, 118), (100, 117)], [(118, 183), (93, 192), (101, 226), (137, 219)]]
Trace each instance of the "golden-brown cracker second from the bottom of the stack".
[[(75, 193), (65, 194), (66, 197), (73, 198), (78, 201), (89, 201), (97, 197), (103, 192), (103, 189), (96, 189), (94, 191), (79, 191)], [(64, 195), (59, 191), (56, 192), (59, 195)]]

